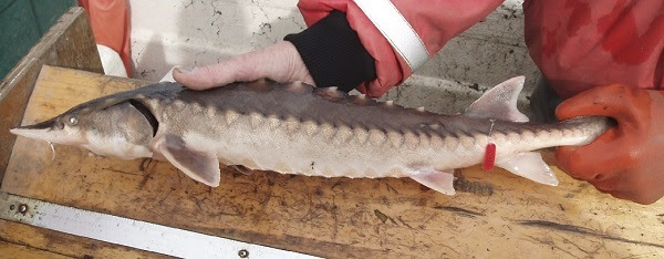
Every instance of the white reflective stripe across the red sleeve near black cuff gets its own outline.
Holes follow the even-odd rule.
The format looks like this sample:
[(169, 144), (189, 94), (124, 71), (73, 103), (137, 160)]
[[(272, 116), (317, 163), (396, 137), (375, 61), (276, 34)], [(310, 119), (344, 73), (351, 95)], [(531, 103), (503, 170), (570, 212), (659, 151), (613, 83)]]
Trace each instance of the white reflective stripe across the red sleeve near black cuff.
[(355, 0), (355, 3), (408, 63), (412, 71), (428, 60), (428, 51), (422, 39), (390, 0)]

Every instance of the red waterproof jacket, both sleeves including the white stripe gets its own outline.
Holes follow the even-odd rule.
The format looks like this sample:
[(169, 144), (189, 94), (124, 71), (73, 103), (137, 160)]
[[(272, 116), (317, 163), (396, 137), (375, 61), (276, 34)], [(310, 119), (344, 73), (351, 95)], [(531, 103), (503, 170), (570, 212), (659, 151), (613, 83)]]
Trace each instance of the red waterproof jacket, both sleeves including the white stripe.
[[(346, 13), (349, 23), (376, 61), (377, 79), (359, 86), (361, 92), (374, 97), (413, 73), (412, 70), (422, 63), (417, 53), (425, 58), (435, 55), (447, 41), (502, 2), (429, 0), (415, 4), (415, 1), (406, 0), (385, 1), (300, 0), (298, 4), (309, 25), (332, 10)], [(396, 9), (390, 12), (394, 8), (382, 6), (376, 11), (375, 7), (380, 4), (375, 2)], [(664, 1), (526, 0), (523, 11), (530, 55), (562, 97), (612, 83), (664, 89)], [(387, 19), (367, 17), (383, 14)], [(412, 32), (402, 30), (394, 37), (394, 23), (385, 23), (385, 20), (405, 21), (401, 24)], [(384, 37), (383, 33), (391, 30), (393, 34)], [(404, 48), (398, 44), (403, 41), (400, 34), (413, 34), (419, 43), (413, 41)], [(418, 49), (418, 44), (422, 48)]]

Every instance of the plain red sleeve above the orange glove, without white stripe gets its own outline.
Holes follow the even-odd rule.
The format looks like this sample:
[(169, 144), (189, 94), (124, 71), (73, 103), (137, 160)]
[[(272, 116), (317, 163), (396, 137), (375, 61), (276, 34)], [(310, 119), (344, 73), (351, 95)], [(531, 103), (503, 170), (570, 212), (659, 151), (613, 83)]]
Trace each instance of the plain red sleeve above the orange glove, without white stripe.
[(561, 97), (615, 83), (664, 90), (664, 1), (527, 0), (523, 12), (530, 55)]

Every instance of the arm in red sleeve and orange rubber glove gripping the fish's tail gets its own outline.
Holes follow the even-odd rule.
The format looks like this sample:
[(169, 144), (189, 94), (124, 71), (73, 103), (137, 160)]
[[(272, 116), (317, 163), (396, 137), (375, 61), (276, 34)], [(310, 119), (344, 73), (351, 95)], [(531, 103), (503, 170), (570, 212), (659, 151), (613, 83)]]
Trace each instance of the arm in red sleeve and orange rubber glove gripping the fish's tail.
[(593, 143), (560, 147), (559, 166), (618, 198), (664, 196), (664, 2), (526, 1), (526, 43), (560, 120), (603, 115)]

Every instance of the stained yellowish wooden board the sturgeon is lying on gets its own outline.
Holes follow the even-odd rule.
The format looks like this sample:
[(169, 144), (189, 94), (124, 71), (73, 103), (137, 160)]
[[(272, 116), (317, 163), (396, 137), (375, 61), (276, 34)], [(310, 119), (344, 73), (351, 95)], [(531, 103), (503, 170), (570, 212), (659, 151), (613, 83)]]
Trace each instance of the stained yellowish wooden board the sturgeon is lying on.
[[(23, 124), (132, 82), (44, 68)], [(4, 131), (4, 130), (3, 130)], [(664, 201), (618, 200), (559, 172), (549, 187), (504, 170), (457, 172), (456, 196), (411, 179), (252, 175), (197, 184), (167, 163), (89, 156), (18, 138), (2, 190), (323, 257), (655, 257)], [(343, 163), (343, 162), (340, 162)]]

